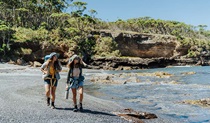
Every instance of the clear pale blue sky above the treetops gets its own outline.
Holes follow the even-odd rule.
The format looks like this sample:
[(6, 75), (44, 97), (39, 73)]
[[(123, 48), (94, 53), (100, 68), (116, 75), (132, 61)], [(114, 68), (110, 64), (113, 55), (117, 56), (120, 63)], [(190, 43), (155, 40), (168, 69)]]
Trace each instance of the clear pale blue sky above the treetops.
[[(97, 11), (104, 21), (149, 16), (186, 24), (207, 25), (210, 29), (210, 0), (80, 0)], [(67, 10), (67, 11), (70, 11)]]

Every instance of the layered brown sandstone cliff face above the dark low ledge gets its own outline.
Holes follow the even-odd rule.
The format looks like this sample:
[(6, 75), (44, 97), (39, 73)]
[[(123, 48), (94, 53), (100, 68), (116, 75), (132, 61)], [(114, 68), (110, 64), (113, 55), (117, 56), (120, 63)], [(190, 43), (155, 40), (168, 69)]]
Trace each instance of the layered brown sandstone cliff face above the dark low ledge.
[(101, 36), (110, 36), (118, 44), (122, 56), (140, 58), (171, 58), (186, 55), (189, 47), (180, 46), (174, 36), (139, 34), (133, 32), (113, 33), (101, 31)]

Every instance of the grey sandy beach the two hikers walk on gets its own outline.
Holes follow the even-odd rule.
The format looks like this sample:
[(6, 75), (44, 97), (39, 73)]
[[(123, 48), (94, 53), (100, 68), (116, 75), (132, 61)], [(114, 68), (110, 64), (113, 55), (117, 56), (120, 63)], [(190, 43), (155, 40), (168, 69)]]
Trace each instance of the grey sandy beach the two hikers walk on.
[[(65, 71), (65, 70), (64, 70)], [(91, 72), (93, 70), (86, 70)], [(64, 99), (66, 72), (61, 73), (56, 91), (56, 109), (46, 106), (44, 83), (39, 68), (0, 64), (0, 122), (1, 123), (126, 123), (112, 114), (123, 110), (115, 102), (84, 95), (84, 111), (73, 112), (71, 93)], [(167, 119), (145, 120), (148, 123), (171, 123)]]

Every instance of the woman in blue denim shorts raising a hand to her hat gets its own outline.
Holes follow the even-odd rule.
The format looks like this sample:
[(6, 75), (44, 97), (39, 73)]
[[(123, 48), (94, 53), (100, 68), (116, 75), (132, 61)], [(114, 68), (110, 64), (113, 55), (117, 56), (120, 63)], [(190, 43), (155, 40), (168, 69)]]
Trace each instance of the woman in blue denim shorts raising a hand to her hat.
[(71, 85), (71, 90), (73, 94), (73, 103), (74, 103), (74, 112), (78, 111), (77, 107), (77, 89), (79, 91), (80, 99), (79, 99), (79, 110), (82, 111), (82, 101), (83, 101), (83, 83), (84, 83), (84, 76), (82, 75), (82, 65), (87, 66), (82, 59), (77, 56), (73, 55), (67, 64), (69, 68), (68, 77), (67, 77), (67, 85), (66, 89), (69, 88), (69, 84)]

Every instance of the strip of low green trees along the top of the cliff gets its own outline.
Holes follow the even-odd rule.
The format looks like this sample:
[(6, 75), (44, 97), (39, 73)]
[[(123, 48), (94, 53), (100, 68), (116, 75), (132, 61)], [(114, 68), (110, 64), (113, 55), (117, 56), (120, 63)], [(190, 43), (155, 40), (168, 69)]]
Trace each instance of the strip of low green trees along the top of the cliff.
[[(98, 28), (109, 30), (124, 30), (138, 33), (174, 35), (183, 37), (207, 37), (206, 25), (192, 26), (178, 21), (140, 17), (128, 20), (118, 19), (116, 22), (100, 22)], [(202, 36), (201, 36), (202, 35)], [(210, 38), (210, 37), (208, 37)]]

